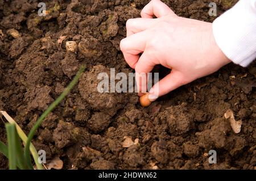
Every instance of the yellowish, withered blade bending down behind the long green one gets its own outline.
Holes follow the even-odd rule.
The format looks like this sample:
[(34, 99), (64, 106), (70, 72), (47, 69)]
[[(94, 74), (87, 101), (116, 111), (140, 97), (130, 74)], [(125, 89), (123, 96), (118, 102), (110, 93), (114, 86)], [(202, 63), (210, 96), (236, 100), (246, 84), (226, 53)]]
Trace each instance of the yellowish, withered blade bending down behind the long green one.
[[(26, 134), (22, 131), (22, 129), (19, 127), (19, 125), (14, 121), (14, 119), (8, 115), (7, 112), (5, 111), (0, 111), (0, 113), (2, 113), (3, 116), (5, 116), (5, 119), (9, 122), (9, 123), (13, 123), (15, 124), (16, 126), (16, 130), (19, 134), (19, 137), (22, 139), (22, 141), (26, 144), (27, 142), (27, 136)], [(36, 164), (36, 167), (38, 170), (44, 170), (44, 167), (41, 163), (38, 162), (38, 151), (36, 151), (35, 149), (35, 146), (34, 145), (30, 145), (30, 151), (31, 151), (31, 154), (32, 154), (32, 157), (34, 158), (34, 161), (35, 161), (35, 164)]]

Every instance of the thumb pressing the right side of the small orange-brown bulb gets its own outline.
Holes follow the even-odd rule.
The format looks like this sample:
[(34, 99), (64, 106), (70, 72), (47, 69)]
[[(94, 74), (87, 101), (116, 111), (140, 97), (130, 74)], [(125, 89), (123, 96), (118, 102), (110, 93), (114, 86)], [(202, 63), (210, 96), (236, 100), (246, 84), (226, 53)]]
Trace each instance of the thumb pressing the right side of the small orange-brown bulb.
[(168, 94), (170, 91), (177, 89), (178, 87), (185, 85), (184, 76), (179, 72), (172, 70), (170, 74), (156, 83), (149, 91), (148, 98), (151, 102), (154, 102), (162, 95)]

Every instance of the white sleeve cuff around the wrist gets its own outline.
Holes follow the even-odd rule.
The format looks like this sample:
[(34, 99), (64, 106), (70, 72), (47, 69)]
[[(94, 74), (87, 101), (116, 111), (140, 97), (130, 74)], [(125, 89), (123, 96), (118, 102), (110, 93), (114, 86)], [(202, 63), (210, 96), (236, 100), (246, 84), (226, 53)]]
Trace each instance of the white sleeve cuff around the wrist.
[(256, 0), (240, 0), (214, 20), (213, 35), (230, 60), (249, 65), (256, 58)]

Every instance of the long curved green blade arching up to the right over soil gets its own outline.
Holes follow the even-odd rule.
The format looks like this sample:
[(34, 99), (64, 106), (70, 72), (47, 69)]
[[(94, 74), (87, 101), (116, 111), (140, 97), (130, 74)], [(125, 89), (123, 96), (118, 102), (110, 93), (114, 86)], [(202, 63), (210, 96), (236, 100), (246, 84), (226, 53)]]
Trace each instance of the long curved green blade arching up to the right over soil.
[(52, 110), (61, 102), (61, 100), (63, 100), (65, 98), (65, 96), (68, 95), (68, 93), (71, 91), (71, 89), (73, 88), (73, 86), (76, 85), (76, 83), (79, 81), (79, 78), (82, 74), (82, 72), (85, 70), (85, 67), (82, 66), (79, 71), (77, 72), (75, 78), (73, 79), (73, 81), (71, 81), (71, 83), (69, 83), (69, 85), (66, 87), (66, 89), (61, 93), (61, 95), (55, 100), (55, 102), (53, 102), (46, 111), (43, 112), (43, 114), (39, 117), (39, 119), (36, 121), (36, 124), (34, 125), (34, 127), (31, 129), (30, 133), (28, 134), (28, 138), (27, 138), (27, 142), (26, 142), (26, 146), (25, 146), (25, 150), (24, 150), (24, 157), (27, 161), (27, 165), (31, 166), (31, 158), (30, 158), (30, 143), (32, 141), (32, 138), (35, 135), (36, 130), (40, 127), (40, 125), (42, 124), (44, 118), (46, 118), (46, 116), (52, 112)]

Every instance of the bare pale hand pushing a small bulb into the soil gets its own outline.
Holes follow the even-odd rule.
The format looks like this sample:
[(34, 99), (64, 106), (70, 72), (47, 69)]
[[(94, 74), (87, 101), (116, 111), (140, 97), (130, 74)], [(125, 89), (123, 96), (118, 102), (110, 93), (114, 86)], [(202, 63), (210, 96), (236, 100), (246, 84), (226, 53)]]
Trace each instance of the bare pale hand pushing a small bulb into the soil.
[[(159, 0), (148, 3), (141, 16), (127, 21), (120, 48), (138, 74), (149, 73), (157, 64), (171, 69), (150, 90), (151, 101), (230, 62), (214, 40), (212, 23), (181, 18)], [(145, 88), (138, 82), (137, 87)]]

